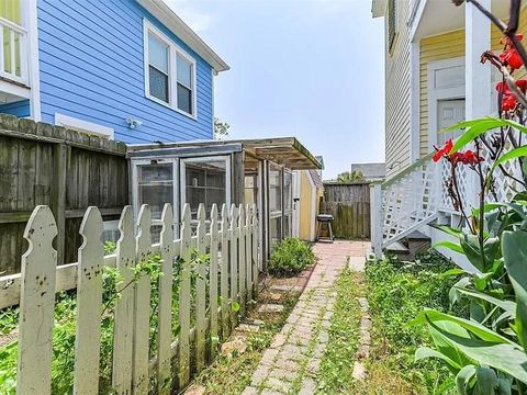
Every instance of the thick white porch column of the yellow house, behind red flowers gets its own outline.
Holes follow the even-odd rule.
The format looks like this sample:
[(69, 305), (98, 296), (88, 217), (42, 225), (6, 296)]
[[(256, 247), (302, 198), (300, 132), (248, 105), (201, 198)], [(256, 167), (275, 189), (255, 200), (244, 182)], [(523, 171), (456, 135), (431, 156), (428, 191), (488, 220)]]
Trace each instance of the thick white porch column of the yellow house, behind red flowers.
[[(480, 0), (480, 3), (491, 9), (491, 0)], [(481, 54), (491, 48), (491, 22), (478, 9), (471, 4), (464, 5), (466, 24), (466, 117), (473, 120), (481, 116), (487, 116), (492, 113), (492, 74), (490, 65), (480, 63)], [(472, 205), (478, 205), (478, 180), (473, 172), (469, 189), (470, 195), (467, 201)], [(467, 207), (469, 210), (469, 207)], [(470, 214), (470, 213), (468, 213)]]

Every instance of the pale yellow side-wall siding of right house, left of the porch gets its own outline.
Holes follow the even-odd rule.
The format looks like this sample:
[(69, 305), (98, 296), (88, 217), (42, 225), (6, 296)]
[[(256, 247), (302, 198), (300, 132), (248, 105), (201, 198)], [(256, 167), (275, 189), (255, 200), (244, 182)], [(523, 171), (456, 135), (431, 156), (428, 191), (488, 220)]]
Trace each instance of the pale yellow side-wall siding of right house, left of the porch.
[[(385, 157), (388, 177), (404, 169), (411, 158), (410, 1), (396, 2), (396, 37), (385, 57)], [(384, 18), (388, 23), (388, 18)], [(385, 26), (388, 32), (388, 26)]]

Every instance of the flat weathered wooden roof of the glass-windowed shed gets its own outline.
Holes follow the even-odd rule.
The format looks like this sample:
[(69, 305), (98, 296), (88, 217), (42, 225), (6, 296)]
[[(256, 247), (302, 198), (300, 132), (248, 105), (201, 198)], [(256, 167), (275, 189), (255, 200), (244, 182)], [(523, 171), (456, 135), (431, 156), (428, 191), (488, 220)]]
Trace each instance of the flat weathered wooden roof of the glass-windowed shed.
[[(295, 137), (262, 139), (195, 140), (181, 143), (138, 144), (127, 146), (128, 158), (153, 156), (187, 156), (243, 149), (249, 157), (267, 159), (291, 170), (322, 169), (322, 163)], [(250, 158), (246, 158), (250, 160)]]

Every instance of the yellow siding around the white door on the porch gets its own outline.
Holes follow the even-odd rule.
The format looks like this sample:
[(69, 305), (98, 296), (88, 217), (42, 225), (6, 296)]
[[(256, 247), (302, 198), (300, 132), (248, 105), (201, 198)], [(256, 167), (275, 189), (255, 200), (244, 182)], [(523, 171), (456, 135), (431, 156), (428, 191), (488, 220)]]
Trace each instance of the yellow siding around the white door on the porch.
[(464, 56), (464, 30), (423, 38), (419, 50), (419, 151), (425, 156), (431, 150), (428, 142), (428, 63)]

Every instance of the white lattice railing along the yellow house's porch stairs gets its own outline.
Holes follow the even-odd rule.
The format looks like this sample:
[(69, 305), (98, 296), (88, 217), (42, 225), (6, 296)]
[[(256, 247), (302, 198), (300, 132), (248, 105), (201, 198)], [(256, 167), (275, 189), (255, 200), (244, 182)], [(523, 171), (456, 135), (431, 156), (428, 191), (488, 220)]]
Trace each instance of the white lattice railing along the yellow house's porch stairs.
[[(516, 135), (518, 140), (519, 135)], [(487, 149), (482, 156), (489, 163), (492, 158)], [(406, 237), (412, 232), (435, 221), (439, 214), (460, 214), (455, 207), (446, 181), (451, 176), (450, 165), (441, 160), (431, 161), (433, 154), (408, 166), (383, 183), (372, 184), (372, 246), (379, 257), (381, 250)], [(500, 169), (494, 172), (492, 191), (486, 201), (511, 200), (522, 190), (519, 182), (522, 171), (516, 161), (508, 161), (503, 169), (512, 177), (506, 177)], [(468, 167), (457, 170), (457, 184), (461, 204), (468, 215), (478, 204), (476, 174)]]

